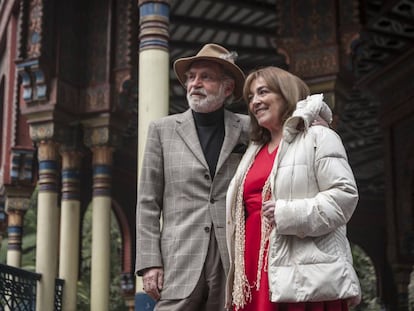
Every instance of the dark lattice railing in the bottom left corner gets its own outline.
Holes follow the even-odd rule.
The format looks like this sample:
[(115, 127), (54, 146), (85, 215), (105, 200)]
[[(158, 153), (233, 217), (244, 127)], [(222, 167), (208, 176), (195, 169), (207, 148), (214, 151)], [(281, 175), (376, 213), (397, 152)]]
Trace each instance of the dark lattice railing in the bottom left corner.
[[(36, 310), (36, 283), (38, 273), (0, 264), (0, 311)], [(55, 282), (55, 311), (62, 310), (64, 280)]]

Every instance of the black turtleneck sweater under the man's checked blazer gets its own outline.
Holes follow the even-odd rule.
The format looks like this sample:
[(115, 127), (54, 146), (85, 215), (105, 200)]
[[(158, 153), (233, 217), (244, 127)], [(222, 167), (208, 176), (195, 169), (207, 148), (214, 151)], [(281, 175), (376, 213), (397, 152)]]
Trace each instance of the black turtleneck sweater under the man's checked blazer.
[(193, 116), (198, 139), (210, 168), (210, 176), (214, 178), (218, 157), (224, 141), (224, 108), (209, 113), (193, 111)]

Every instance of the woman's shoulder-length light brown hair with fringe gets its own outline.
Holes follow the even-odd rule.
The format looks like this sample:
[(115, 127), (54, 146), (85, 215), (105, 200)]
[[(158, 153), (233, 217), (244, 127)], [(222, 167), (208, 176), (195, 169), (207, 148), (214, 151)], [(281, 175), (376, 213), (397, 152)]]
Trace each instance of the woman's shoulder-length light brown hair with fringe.
[[(285, 103), (285, 112), (282, 116), (283, 122), (286, 121), (296, 109), (296, 103), (305, 99), (310, 95), (309, 87), (299, 77), (278, 67), (264, 67), (251, 72), (244, 83), (243, 97), (247, 105), (249, 105), (250, 87), (257, 78), (262, 78), (267, 87), (282, 96)], [(270, 141), (270, 132), (261, 127), (256, 118), (247, 109), (251, 122), (251, 140), (254, 142), (265, 144)]]

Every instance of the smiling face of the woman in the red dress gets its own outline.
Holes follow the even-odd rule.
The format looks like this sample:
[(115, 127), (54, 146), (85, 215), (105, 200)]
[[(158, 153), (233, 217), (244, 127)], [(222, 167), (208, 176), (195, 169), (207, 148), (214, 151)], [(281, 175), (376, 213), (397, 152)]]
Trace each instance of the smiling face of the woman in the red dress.
[(257, 123), (271, 133), (281, 130), (286, 104), (283, 97), (271, 91), (262, 77), (250, 85), (249, 110)]

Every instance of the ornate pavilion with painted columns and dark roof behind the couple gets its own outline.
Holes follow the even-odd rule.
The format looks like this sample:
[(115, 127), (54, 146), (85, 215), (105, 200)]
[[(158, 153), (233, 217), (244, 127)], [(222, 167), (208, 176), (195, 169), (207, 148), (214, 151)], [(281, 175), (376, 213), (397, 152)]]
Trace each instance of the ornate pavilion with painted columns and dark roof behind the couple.
[[(21, 267), (36, 189), (36, 309), (54, 309), (60, 279), (62, 309), (76, 310), (81, 224), (92, 206), (91, 310), (110, 310), (102, 297), (114, 213), (123, 296), (133, 310), (146, 126), (187, 109), (172, 62), (214, 42), (237, 51), (246, 73), (279, 66), (325, 94), (360, 191), (350, 240), (374, 264), (384, 309), (408, 310), (413, 39), (413, 0), (0, 0), (2, 264)], [(243, 103), (230, 109), (245, 111)]]

